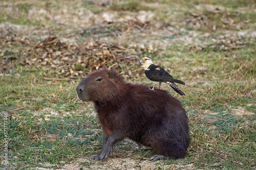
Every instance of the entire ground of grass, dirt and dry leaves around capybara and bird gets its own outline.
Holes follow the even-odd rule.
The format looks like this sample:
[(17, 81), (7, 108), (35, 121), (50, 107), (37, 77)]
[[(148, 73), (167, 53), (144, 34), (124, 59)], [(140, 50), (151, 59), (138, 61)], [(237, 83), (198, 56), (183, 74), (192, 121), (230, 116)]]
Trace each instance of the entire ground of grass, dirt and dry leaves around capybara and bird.
[[(0, 169), (256, 169), (254, 1), (0, 1)], [(152, 85), (150, 57), (186, 86), (184, 159), (148, 161), (129, 139), (106, 160), (76, 85), (116, 69)]]

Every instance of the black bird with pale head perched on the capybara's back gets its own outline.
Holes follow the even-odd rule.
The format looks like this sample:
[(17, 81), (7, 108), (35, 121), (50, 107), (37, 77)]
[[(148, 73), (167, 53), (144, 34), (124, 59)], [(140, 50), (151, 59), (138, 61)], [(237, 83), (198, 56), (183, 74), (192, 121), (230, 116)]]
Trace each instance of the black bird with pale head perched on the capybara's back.
[(174, 79), (172, 75), (168, 74), (167, 71), (165, 71), (162, 67), (155, 65), (153, 61), (148, 57), (143, 57), (140, 60), (140, 63), (142, 64), (144, 68), (144, 73), (148, 79), (153, 81), (153, 88), (150, 88), (151, 90), (154, 90), (155, 82), (159, 82), (159, 88), (161, 86), (161, 83), (167, 83), (170, 87), (172, 87), (178, 94), (185, 95), (181, 89), (175, 84), (179, 83), (182, 85), (185, 85), (185, 82), (181, 80)]

